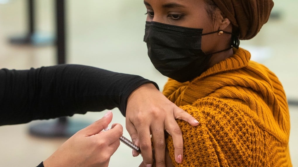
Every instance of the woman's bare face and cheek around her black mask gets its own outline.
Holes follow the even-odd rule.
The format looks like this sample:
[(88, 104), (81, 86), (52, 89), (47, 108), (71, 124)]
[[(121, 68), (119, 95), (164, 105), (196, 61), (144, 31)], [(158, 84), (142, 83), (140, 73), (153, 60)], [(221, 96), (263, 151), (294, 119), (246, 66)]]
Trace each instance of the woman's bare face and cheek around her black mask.
[[(212, 20), (207, 12), (209, 6), (204, 0), (144, 0), (144, 4), (147, 8), (147, 21), (202, 28), (203, 34), (218, 31), (220, 28), (220, 10), (213, 11), (215, 20)], [(205, 53), (218, 51), (217, 46), (217, 33), (202, 36), (201, 47)]]

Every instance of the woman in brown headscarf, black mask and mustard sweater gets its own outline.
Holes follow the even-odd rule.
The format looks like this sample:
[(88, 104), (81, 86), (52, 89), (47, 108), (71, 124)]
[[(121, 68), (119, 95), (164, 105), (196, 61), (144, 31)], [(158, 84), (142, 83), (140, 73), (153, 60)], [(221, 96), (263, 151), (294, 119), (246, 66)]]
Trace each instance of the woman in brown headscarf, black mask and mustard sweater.
[[(177, 120), (183, 159), (167, 135), (171, 158), (167, 165), (291, 166), (283, 87), (265, 66), (249, 60), (249, 51), (238, 47), (239, 39), (253, 38), (268, 21), (273, 1), (144, 0), (144, 4), (148, 55), (169, 77), (163, 93), (200, 122), (191, 127)], [(155, 158), (159, 166), (159, 157)]]

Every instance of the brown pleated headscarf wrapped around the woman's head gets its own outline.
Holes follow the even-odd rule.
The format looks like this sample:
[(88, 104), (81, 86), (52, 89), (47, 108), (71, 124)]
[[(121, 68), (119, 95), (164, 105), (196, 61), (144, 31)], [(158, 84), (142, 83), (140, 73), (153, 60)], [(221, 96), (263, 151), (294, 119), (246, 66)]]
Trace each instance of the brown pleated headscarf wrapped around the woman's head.
[(251, 39), (268, 21), (272, 0), (213, 0), (223, 14), (238, 28), (239, 39)]

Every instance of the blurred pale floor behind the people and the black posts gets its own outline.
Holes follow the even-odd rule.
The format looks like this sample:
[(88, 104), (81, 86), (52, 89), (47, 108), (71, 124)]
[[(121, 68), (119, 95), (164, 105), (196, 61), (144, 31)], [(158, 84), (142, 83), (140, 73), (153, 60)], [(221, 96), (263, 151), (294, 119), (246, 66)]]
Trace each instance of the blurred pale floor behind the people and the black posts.
[[(0, 68), (29, 69), (57, 64), (56, 1), (34, 1), (34, 43), (13, 44), (16, 37), (28, 34), (27, 0), (0, 0)], [(283, 83), (291, 117), (290, 152), (293, 166), (298, 166), (298, 19), (297, 0), (275, 1), (271, 18), (251, 40), (240, 47), (252, 53), (252, 60), (271, 69)], [(155, 81), (162, 90), (167, 78), (150, 63), (143, 42), (146, 8), (142, 0), (72, 0), (65, 1), (65, 61), (95, 66), (111, 71), (137, 74)], [(1, 109), (0, 109), (1, 110)], [(113, 109), (112, 123), (125, 118)], [(70, 121), (92, 123), (106, 111), (74, 115)], [(67, 138), (36, 137), (29, 127), (43, 121), (0, 127), (0, 166), (37, 166)], [(131, 149), (120, 144), (109, 166), (138, 166), (142, 158), (132, 157)]]

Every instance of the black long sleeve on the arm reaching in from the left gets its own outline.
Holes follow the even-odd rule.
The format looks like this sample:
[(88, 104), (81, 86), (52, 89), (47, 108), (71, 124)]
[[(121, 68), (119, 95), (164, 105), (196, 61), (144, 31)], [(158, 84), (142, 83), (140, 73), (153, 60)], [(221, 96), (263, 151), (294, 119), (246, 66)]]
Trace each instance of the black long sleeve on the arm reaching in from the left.
[[(129, 94), (147, 82), (152, 81), (83, 65), (1, 69), (0, 125), (115, 107), (125, 116)], [(156, 83), (152, 83), (158, 88)]]

